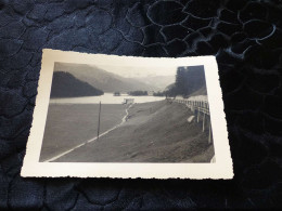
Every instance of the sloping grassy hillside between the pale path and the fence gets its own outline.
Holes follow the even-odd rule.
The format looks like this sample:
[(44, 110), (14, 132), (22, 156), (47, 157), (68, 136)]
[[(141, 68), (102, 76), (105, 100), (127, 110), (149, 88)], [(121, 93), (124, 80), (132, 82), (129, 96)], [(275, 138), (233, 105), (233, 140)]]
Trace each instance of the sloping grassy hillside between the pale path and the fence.
[(166, 101), (136, 104), (121, 127), (55, 161), (209, 162), (208, 130), (188, 123), (191, 115), (184, 105)]

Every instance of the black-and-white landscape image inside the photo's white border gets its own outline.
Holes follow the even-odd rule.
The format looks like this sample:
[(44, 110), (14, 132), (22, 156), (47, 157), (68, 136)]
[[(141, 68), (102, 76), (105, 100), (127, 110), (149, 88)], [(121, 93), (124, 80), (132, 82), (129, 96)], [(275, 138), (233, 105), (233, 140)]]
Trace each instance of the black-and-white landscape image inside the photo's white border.
[(203, 65), (54, 64), (40, 161), (213, 160)]

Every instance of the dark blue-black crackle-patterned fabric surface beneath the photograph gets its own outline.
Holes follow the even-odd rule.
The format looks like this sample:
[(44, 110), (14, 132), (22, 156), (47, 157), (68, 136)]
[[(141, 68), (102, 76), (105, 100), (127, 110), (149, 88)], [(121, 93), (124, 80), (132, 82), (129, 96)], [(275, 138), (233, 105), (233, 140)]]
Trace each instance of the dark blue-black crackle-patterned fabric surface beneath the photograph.
[[(1, 0), (0, 208), (281, 207), (281, 30), (280, 0)], [(234, 179), (22, 179), (42, 48), (216, 55)]]

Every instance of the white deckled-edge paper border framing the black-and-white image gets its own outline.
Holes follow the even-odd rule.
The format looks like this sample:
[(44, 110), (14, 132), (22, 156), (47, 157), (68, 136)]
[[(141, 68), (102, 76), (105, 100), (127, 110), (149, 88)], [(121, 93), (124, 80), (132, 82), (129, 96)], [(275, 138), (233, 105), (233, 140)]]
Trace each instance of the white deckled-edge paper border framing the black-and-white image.
[[(204, 65), (209, 102), (216, 162), (39, 162), (50, 101), (54, 63), (120, 66), (196, 66)], [(34, 120), (21, 171), (24, 177), (118, 177), (118, 179), (232, 179), (233, 163), (228, 141), (226, 115), (215, 56), (134, 57), (87, 54), (44, 49), (34, 110)]]

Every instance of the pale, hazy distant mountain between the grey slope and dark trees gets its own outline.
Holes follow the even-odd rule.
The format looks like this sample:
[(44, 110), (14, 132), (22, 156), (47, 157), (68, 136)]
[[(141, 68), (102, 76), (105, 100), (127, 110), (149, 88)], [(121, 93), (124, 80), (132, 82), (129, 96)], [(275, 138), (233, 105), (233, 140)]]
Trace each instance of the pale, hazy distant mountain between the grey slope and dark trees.
[(151, 76), (151, 77), (141, 77), (141, 78), (132, 78), (143, 83), (150, 85), (154, 84), (157, 90), (153, 91), (164, 91), (167, 85), (171, 84), (176, 80), (176, 76)]

